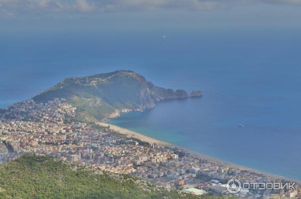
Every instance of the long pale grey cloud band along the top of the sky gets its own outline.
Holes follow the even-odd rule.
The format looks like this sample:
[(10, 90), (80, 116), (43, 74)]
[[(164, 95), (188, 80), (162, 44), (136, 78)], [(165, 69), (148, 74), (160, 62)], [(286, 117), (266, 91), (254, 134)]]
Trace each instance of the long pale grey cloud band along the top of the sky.
[(0, 0), (0, 17), (156, 10), (203, 11), (249, 3), (301, 6), (301, 0)]

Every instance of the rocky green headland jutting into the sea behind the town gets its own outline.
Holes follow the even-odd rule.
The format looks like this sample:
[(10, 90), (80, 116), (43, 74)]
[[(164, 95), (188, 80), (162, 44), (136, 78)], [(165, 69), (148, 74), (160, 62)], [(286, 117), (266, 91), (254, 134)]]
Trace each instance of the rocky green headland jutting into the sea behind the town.
[(121, 70), (66, 78), (33, 99), (47, 102), (65, 98), (77, 108), (75, 119), (91, 122), (116, 116), (120, 112), (153, 108), (157, 101), (195, 96), (202, 94), (193, 91), (189, 95), (184, 90), (161, 88), (137, 73)]

